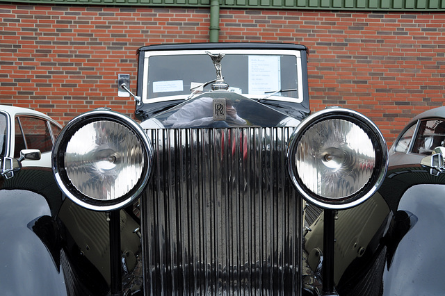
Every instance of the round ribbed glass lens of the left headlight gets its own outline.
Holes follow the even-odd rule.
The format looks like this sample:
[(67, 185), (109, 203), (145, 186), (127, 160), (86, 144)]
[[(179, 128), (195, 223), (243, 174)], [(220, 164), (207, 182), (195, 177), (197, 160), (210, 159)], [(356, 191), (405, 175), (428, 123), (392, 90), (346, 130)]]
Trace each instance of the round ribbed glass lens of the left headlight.
[(86, 124), (67, 143), (67, 176), (77, 190), (93, 199), (127, 194), (140, 179), (144, 163), (136, 135), (115, 122)]

